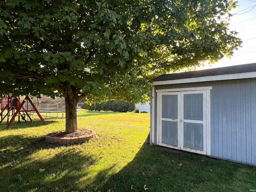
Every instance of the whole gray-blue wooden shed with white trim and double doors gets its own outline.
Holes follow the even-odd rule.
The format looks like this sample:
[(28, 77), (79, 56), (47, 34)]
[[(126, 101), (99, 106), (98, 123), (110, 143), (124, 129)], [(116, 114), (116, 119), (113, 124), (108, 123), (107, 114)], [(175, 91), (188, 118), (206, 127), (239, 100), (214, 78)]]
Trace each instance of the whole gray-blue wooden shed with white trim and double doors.
[(152, 80), (150, 143), (256, 166), (256, 63)]

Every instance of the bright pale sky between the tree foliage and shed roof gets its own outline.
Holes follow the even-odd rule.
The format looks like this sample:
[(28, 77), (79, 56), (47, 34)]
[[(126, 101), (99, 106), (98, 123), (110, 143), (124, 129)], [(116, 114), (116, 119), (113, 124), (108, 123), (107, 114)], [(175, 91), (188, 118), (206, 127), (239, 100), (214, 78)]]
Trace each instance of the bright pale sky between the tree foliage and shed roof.
[(233, 16), (229, 21), (229, 28), (239, 32), (238, 37), (243, 41), (242, 47), (234, 51), (232, 58), (224, 57), (219, 62), (200, 67), (198, 70), (256, 63), (256, 0), (238, 0), (238, 6), (230, 13)]

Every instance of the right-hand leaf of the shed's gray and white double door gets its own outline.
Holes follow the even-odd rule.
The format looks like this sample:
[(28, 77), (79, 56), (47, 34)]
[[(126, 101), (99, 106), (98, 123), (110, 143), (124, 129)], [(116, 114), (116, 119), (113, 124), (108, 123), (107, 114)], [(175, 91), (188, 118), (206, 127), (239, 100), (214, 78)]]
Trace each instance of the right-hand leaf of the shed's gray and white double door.
[(182, 150), (206, 154), (206, 91), (181, 93)]

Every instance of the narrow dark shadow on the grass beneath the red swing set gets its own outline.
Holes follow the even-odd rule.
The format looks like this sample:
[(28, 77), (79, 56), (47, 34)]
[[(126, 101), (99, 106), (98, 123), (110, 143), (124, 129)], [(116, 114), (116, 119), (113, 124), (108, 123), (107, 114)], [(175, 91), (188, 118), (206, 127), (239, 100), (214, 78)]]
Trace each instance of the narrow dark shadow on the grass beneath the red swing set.
[[(15, 129), (21, 129), (21, 128), (31, 128), (36, 126), (47, 126), (49, 124), (58, 123), (58, 121), (54, 120), (48, 120), (46, 124), (43, 124), (40, 120), (35, 120), (34, 122), (13, 122), (8, 130), (15, 130)], [(5, 130), (7, 123), (2, 122), (0, 124), (0, 130)]]

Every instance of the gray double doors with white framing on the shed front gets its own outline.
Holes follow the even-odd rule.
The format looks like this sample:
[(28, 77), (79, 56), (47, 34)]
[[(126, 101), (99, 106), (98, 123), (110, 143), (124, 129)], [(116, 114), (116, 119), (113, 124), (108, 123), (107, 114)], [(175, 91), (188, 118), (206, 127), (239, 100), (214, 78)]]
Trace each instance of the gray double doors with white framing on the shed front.
[(206, 154), (206, 92), (160, 92), (159, 145)]

